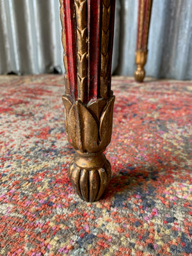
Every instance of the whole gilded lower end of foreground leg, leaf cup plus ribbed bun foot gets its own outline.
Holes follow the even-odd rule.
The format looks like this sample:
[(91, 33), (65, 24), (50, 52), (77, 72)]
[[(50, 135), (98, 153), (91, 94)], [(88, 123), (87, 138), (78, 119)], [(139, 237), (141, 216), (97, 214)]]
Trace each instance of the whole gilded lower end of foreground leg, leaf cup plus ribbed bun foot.
[(111, 140), (114, 101), (111, 95), (108, 100), (72, 103), (63, 96), (68, 141), (77, 152), (70, 164), (69, 179), (87, 202), (99, 200), (111, 179), (111, 165), (102, 152)]

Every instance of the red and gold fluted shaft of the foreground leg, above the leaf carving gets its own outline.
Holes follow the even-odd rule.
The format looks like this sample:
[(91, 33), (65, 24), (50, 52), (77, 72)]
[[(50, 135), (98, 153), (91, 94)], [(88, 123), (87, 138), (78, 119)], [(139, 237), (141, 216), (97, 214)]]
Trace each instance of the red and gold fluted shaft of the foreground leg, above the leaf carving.
[[(84, 4), (87, 4), (86, 9)], [(108, 15), (103, 13), (104, 8), (109, 13)], [(111, 92), (115, 0), (65, 0), (63, 9), (70, 97), (74, 100), (80, 99), (86, 104), (91, 99), (103, 97), (100, 92), (107, 91), (104, 95), (107, 99)], [(84, 10), (87, 10), (86, 13)], [(108, 30), (104, 31), (108, 23)], [(77, 31), (80, 27), (82, 30)], [(84, 51), (86, 51), (84, 33), (87, 34), (87, 63), (83, 59)], [(79, 42), (79, 35), (82, 36), (82, 44)], [(106, 46), (105, 58), (101, 58), (102, 45)], [(102, 84), (100, 82), (101, 72), (102, 76), (106, 74)], [(106, 88), (102, 90), (102, 86)]]

